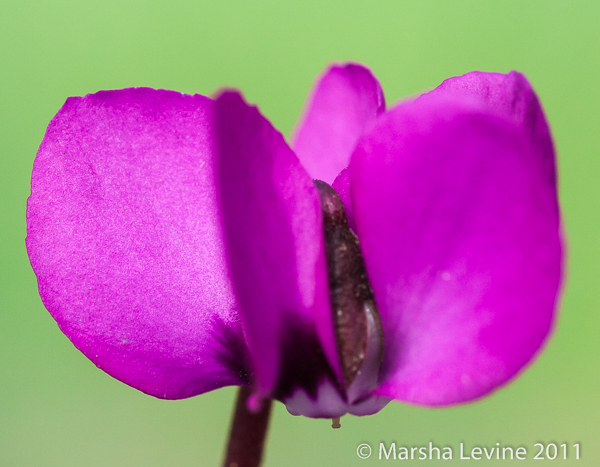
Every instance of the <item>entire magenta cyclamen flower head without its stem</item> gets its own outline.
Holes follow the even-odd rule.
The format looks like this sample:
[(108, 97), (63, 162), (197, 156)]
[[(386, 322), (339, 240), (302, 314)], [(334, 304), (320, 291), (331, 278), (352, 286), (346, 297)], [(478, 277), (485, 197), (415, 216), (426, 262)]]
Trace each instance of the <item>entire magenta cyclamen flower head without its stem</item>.
[[(370, 71), (333, 66), (291, 148), (235, 91), (101, 91), (48, 127), (27, 248), (61, 330), (147, 394), (252, 386), (310, 417), (455, 404), (513, 378), (551, 330), (554, 164), (516, 72), (386, 111)], [(344, 220), (313, 179), (360, 242), (346, 229), (335, 244), (364, 258), (358, 314), (339, 305), (346, 272), (330, 287), (319, 192), (325, 222)]]

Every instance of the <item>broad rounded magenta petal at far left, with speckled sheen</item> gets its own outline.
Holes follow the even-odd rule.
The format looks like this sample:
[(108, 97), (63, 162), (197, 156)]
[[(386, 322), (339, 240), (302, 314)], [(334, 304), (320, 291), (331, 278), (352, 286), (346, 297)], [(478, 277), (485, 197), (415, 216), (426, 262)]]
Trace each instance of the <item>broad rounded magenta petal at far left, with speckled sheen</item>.
[(213, 107), (141, 88), (70, 98), (33, 169), (27, 249), (44, 304), (96, 365), (161, 398), (249, 383)]

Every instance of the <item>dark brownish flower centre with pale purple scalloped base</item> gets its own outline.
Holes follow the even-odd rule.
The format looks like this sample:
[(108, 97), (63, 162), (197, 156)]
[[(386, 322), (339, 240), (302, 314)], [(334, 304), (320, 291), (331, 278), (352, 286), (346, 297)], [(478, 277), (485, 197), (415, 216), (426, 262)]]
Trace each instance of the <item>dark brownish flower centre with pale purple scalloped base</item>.
[(314, 386), (292, 385), (293, 390), (282, 386), (280, 397), (292, 415), (332, 418), (332, 426), (338, 428), (342, 415), (370, 415), (389, 402), (373, 395), (383, 359), (383, 333), (358, 238), (348, 226), (342, 200), (326, 183), (314, 183), (323, 211), (329, 299), (344, 388), (332, 372), (323, 373)]

